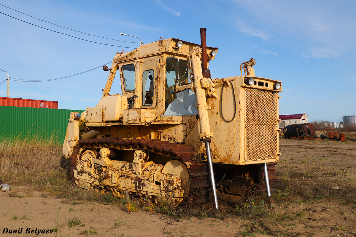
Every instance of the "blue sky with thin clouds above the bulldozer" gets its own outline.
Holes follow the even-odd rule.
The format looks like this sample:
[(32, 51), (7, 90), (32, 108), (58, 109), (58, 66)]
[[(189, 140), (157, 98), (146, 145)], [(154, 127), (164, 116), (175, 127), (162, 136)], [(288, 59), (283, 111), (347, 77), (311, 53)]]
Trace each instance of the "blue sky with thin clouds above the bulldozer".
[[(212, 77), (240, 75), (256, 59), (256, 76), (282, 81), (279, 114), (339, 122), (356, 113), (356, 1), (7, 1), (1, 5), (88, 34), (144, 43), (159, 37), (218, 47)], [(46, 80), (112, 61), (138, 43), (89, 36), (0, 6), (0, 69), (10, 78)], [(110, 67), (111, 64), (109, 64)], [(101, 68), (48, 82), (10, 80), (10, 97), (58, 101), (61, 109), (94, 107), (108, 72)], [(0, 71), (0, 82), (6, 73)], [(0, 96), (7, 96), (6, 81)]]

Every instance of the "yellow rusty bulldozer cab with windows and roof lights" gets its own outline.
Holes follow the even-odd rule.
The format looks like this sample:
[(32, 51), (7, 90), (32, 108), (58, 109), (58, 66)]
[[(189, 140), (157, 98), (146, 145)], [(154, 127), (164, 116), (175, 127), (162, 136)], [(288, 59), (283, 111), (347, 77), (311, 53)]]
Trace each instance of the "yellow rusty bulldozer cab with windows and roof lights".
[[(176, 99), (176, 88), (190, 83), (187, 55), (198, 45), (184, 42), (178, 47), (178, 42), (182, 41), (170, 38), (117, 53), (103, 97), (118, 93), (110, 89), (120, 77), (121, 94), (127, 97), (129, 108), (155, 109), (157, 117), (162, 115)], [(208, 60), (213, 58), (208, 56)]]

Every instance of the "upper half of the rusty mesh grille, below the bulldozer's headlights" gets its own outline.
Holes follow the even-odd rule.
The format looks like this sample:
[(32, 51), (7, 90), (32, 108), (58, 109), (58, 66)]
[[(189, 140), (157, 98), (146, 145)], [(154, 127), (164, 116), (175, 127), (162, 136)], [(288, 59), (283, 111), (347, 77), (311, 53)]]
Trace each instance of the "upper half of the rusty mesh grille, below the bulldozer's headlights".
[(246, 123), (277, 124), (277, 92), (246, 88)]

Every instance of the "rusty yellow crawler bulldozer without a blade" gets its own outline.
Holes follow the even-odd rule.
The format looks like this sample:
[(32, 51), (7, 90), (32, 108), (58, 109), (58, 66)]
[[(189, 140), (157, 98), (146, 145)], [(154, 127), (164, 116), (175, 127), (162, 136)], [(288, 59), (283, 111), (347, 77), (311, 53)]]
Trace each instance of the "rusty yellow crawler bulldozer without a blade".
[(218, 48), (206, 46), (205, 31), (200, 44), (161, 37), (116, 53), (99, 103), (69, 116), (63, 155), (73, 182), (172, 206), (218, 209), (217, 192), (255, 184), (271, 196), (281, 82), (255, 76), (255, 59), (240, 76), (212, 77)]

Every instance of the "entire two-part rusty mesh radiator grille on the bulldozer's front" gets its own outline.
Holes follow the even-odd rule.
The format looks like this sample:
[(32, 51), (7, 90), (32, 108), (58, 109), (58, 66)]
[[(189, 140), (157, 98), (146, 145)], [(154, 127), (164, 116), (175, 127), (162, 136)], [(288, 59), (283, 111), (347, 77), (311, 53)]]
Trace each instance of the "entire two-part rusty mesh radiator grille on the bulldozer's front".
[(277, 158), (278, 93), (251, 88), (246, 95), (246, 161)]

